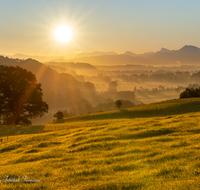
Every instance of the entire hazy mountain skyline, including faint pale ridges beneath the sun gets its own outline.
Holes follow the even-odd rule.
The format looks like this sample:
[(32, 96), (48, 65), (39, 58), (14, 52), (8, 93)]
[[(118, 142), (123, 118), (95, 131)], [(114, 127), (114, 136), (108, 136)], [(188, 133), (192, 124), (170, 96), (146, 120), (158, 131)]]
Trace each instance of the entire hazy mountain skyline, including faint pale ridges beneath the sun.
[(77, 54), (73, 59), (59, 56), (29, 56), (15, 54), (11, 56), (19, 59), (36, 59), (41, 62), (81, 62), (92, 65), (200, 65), (200, 48), (186, 45), (179, 50), (161, 48), (158, 52), (135, 54), (126, 51), (123, 54), (115, 52), (83, 52)]

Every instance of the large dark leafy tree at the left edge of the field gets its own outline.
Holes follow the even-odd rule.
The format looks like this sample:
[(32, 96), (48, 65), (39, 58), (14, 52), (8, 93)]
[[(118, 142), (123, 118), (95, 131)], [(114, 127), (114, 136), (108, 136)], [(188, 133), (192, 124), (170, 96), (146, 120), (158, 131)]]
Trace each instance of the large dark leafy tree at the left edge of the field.
[(4, 125), (31, 124), (30, 119), (48, 112), (41, 84), (21, 67), (0, 65), (0, 120)]

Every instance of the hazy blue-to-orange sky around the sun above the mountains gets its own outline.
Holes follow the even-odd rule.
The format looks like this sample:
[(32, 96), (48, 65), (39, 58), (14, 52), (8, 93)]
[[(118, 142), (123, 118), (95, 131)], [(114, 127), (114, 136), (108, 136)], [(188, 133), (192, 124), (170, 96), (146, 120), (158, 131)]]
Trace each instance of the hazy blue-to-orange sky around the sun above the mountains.
[[(200, 0), (0, 0), (0, 54), (158, 51), (200, 47)], [(56, 41), (68, 24), (73, 38)]]

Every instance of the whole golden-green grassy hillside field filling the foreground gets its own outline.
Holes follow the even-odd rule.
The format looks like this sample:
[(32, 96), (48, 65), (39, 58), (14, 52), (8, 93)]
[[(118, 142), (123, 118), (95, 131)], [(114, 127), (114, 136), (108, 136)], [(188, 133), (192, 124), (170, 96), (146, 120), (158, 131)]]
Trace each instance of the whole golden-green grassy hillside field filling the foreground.
[(200, 98), (0, 126), (0, 136), (0, 180), (40, 180), (0, 189), (200, 189)]

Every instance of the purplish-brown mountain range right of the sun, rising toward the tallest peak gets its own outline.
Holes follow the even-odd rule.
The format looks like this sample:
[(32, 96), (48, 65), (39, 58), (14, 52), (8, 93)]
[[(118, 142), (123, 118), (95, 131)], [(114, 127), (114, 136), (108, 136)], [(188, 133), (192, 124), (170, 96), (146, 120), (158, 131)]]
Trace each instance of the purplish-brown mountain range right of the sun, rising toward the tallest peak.
[(100, 55), (71, 59), (72, 62), (85, 62), (92, 65), (200, 65), (200, 49), (186, 45), (179, 50), (162, 48), (155, 53), (135, 54), (130, 51), (124, 54)]

